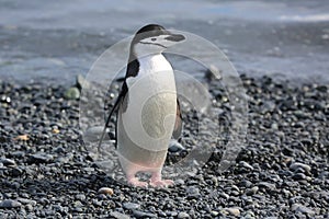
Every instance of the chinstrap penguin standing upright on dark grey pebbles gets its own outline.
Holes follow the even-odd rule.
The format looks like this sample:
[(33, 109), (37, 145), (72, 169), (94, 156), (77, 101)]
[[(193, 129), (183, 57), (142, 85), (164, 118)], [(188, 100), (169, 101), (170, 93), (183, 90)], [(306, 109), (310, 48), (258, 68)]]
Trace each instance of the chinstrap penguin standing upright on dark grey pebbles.
[(161, 177), (170, 139), (179, 138), (182, 117), (177, 97), (173, 69), (162, 51), (185, 37), (157, 24), (141, 27), (131, 43), (127, 70), (118, 97), (109, 114), (116, 112), (116, 148), (127, 182), (148, 186), (136, 177), (150, 172), (149, 185), (168, 186)]

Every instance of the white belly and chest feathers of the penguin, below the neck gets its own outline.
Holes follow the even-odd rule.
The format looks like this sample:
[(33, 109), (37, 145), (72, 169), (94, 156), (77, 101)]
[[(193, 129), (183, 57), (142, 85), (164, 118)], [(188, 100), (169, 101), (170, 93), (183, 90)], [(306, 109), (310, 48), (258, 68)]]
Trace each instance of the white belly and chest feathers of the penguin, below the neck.
[(117, 150), (133, 164), (161, 168), (175, 123), (175, 83), (169, 64), (149, 69), (141, 68), (127, 81), (128, 93), (117, 117)]

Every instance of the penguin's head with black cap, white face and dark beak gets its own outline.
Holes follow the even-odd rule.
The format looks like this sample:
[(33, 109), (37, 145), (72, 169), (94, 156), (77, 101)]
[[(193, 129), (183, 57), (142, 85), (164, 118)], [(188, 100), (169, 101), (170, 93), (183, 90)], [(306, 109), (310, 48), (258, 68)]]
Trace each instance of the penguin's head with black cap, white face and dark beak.
[(166, 48), (184, 41), (181, 34), (173, 34), (158, 24), (141, 27), (134, 36), (132, 50), (135, 55), (162, 53)]

